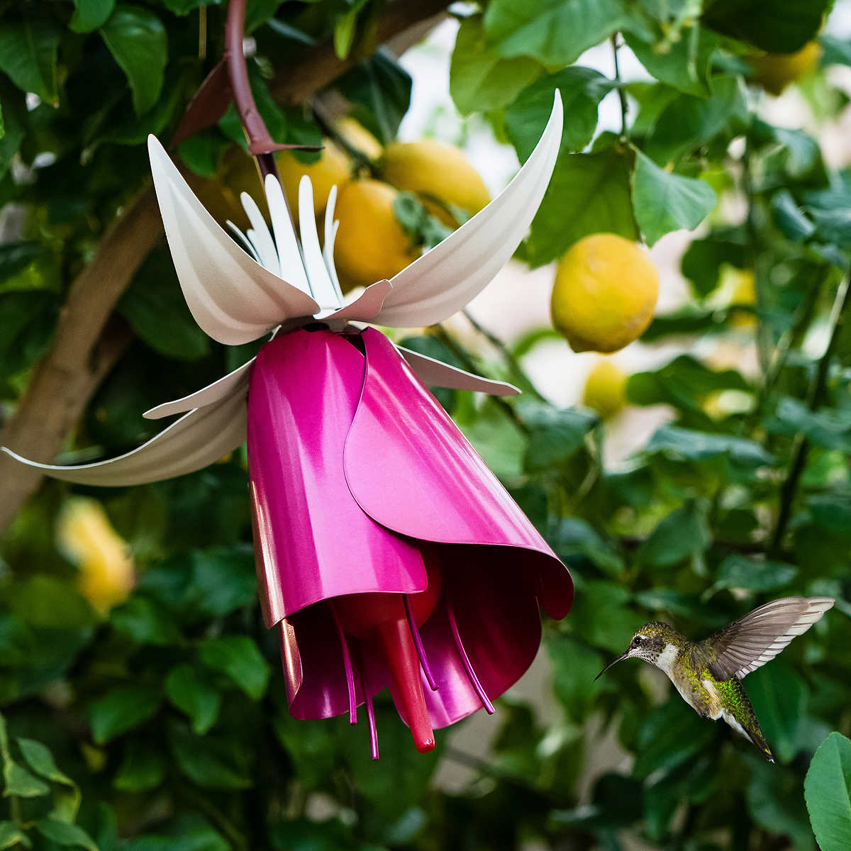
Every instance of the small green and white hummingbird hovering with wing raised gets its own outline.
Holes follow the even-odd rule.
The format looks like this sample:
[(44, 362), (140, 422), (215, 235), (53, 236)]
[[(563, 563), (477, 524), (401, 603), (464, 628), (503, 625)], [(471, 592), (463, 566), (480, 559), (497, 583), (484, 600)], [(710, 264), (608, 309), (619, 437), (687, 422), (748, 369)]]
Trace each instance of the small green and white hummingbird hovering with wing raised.
[(594, 679), (622, 660), (643, 659), (665, 671), (698, 715), (713, 721), (723, 718), (757, 745), (768, 762), (774, 762), (741, 681), (806, 632), (834, 602), (832, 597), (782, 597), (699, 642), (689, 641), (672, 626), (654, 620), (640, 627), (625, 652)]

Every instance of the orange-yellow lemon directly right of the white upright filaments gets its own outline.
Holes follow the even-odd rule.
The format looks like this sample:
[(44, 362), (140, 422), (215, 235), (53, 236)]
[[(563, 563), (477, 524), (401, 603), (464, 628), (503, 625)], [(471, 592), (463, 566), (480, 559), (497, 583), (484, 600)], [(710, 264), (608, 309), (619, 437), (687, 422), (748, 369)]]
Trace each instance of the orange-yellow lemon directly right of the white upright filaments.
[(393, 277), (420, 256), (393, 211), (397, 194), (380, 180), (357, 180), (340, 192), (334, 263), (341, 283), (365, 287)]

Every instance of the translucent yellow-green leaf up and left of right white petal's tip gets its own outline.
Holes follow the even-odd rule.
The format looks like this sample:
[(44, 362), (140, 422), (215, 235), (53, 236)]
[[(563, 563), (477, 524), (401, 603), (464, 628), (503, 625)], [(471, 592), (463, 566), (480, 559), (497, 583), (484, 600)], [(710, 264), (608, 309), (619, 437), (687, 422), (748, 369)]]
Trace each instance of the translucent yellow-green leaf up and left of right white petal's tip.
[[(449, 94), (461, 115), (508, 106), (543, 72), (534, 60), (505, 59), (485, 40), (481, 17), (461, 22), (449, 66)], [(552, 102), (550, 103), (552, 107)]]

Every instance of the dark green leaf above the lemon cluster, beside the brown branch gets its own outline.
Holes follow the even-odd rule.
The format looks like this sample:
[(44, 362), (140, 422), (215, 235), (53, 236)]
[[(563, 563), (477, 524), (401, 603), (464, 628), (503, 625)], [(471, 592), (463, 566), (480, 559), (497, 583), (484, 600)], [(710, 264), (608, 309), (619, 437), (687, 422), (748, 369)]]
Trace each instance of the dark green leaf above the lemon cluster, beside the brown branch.
[(411, 102), (411, 77), (384, 50), (364, 60), (341, 77), (335, 86), (355, 109), (351, 115), (380, 142), (396, 138), (399, 124)]

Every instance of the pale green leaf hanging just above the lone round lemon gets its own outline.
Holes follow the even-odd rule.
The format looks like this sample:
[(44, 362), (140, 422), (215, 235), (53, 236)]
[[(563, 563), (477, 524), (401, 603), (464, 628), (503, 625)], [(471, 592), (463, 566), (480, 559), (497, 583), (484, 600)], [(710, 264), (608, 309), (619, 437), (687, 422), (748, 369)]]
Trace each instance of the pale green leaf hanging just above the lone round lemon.
[(716, 201), (715, 190), (705, 180), (670, 174), (637, 152), (632, 207), (648, 245), (671, 231), (694, 231)]

